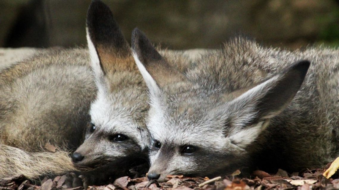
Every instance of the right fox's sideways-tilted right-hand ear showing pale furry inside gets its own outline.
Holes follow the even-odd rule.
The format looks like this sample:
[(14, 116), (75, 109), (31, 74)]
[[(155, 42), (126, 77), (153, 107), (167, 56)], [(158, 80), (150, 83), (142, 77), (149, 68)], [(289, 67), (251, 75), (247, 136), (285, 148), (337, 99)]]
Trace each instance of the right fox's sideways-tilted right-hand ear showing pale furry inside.
[(309, 66), (310, 62), (301, 61), (229, 102), (231, 131), (228, 137), (231, 142), (240, 147), (253, 142), (268, 126), (270, 118), (280, 114), (290, 104)]

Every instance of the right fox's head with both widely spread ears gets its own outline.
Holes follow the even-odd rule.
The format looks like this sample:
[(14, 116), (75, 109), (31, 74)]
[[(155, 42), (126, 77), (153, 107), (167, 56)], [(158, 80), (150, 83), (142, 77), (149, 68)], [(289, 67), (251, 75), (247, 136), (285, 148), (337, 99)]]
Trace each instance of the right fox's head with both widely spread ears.
[[(270, 119), (292, 101), (310, 65), (301, 61), (258, 84), (232, 91), (220, 88), (222, 81), (201, 78), (204, 69), (181, 75), (138, 29), (132, 34), (132, 51), (151, 100), (146, 120), (153, 142), (148, 179), (158, 181), (169, 174), (232, 171), (247, 159), (250, 145)], [(201, 64), (208, 67), (204, 61)]]

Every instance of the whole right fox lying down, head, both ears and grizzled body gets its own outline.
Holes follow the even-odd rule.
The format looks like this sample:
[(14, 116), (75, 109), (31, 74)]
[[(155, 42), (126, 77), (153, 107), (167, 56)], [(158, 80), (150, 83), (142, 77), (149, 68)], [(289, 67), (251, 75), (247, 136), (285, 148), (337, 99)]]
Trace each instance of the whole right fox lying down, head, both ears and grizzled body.
[(151, 99), (149, 179), (243, 166), (299, 171), (338, 156), (337, 49), (287, 51), (238, 38), (186, 75), (138, 29), (132, 49)]

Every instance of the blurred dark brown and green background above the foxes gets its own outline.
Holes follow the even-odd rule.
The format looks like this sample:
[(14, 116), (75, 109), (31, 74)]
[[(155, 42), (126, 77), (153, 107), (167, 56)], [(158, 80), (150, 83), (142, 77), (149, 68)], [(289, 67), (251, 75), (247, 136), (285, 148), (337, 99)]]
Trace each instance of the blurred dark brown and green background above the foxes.
[[(1, 0), (0, 47), (86, 45), (90, 0)], [(288, 48), (339, 45), (339, 0), (103, 0), (128, 41), (134, 27), (172, 49), (219, 48), (238, 34)]]

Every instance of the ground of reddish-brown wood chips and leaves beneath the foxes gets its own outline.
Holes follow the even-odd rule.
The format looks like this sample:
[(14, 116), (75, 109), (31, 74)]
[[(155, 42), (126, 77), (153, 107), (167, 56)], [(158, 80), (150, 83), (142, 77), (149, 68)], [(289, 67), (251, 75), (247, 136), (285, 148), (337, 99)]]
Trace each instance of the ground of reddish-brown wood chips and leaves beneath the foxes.
[(338, 190), (338, 173), (329, 179), (323, 176), (330, 164), (324, 168), (306, 169), (292, 174), (279, 169), (276, 174), (257, 170), (249, 176), (243, 176), (237, 170), (232, 175), (214, 179), (169, 175), (168, 181), (164, 183), (147, 181), (146, 177), (131, 179), (125, 176), (116, 179), (113, 184), (103, 186), (88, 186), (78, 177), (73, 178), (72, 173), (52, 179), (45, 177), (37, 184), (26, 180), (24, 176), (13, 176), (0, 179), (0, 190)]

